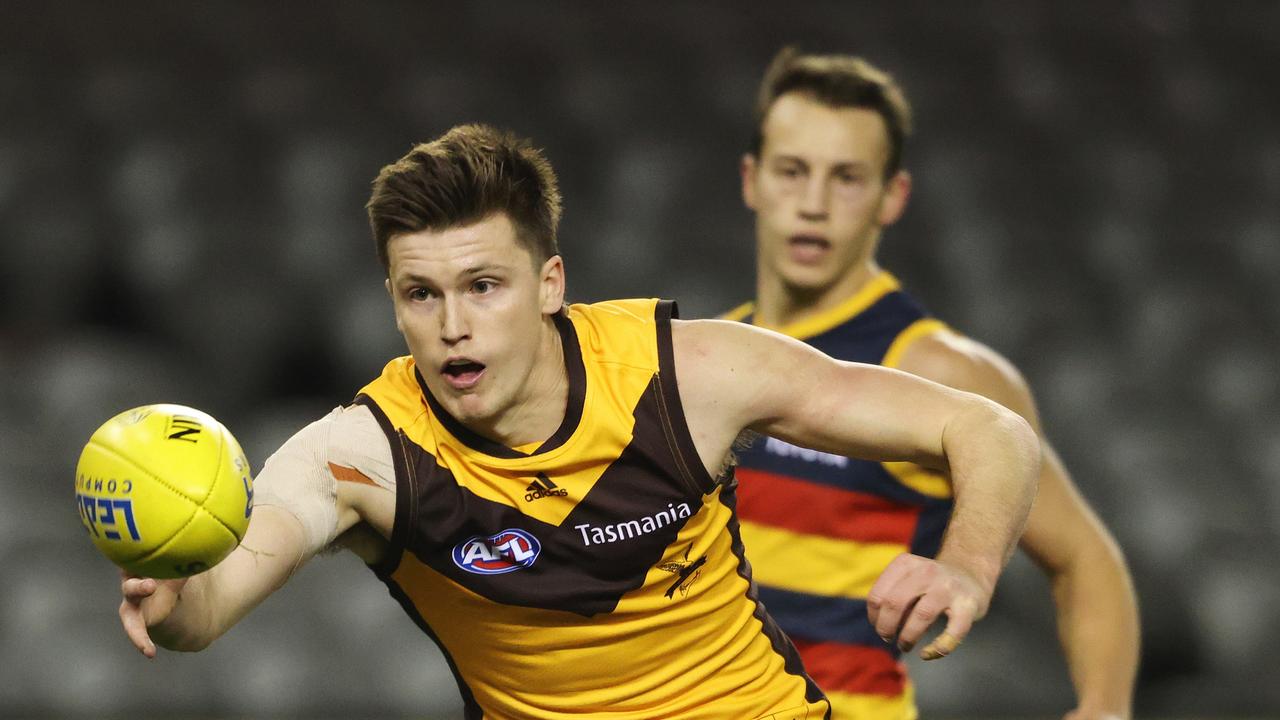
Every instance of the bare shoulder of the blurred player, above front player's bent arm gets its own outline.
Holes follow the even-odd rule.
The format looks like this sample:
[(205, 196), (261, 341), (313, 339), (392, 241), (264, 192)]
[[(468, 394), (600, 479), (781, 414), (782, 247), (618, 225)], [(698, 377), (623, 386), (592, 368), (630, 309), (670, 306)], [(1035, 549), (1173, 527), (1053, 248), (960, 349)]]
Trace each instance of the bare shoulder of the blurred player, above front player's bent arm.
[(988, 397), (1024, 416), (1034, 411), (1027, 379), (1009, 359), (947, 328), (915, 338), (895, 368)]

